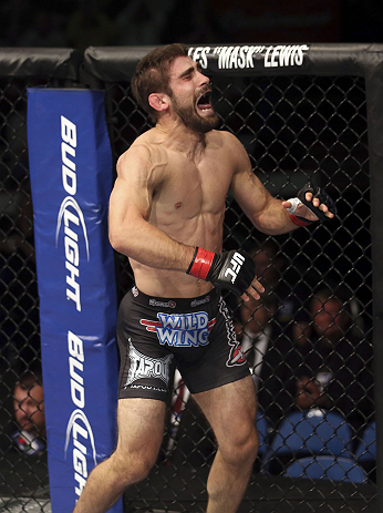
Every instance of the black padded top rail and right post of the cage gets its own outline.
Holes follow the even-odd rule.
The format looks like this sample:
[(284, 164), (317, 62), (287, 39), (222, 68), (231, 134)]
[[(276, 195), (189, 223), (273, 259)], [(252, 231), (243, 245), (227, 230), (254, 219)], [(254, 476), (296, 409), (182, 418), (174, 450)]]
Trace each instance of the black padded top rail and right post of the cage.
[[(0, 80), (15, 79), (39, 81), (42, 86), (105, 88), (112, 83), (128, 83), (138, 60), (152, 48), (89, 48), (84, 57), (73, 50), (2, 49), (0, 52)], [(193, 45), (189, 54), (199, 60), (206, 73), (215, 78), (283, 78), (283, 76), (356, 76), (364, 80), (369, 137), (369, 171), (372, 242), (372, 319), (375, 356), (375, 387), (380, 387), (379, 362), (383, 355), (379, 343), (383, 315), (381, 235), (382, 213), (380, 196), (383, 192), (382, 167), (382, 81), (383, 45), (381, 44), (247, 44), (247, 45)], [(107, 106), (107, 120), (113, 143), (113, 109)], [(116, 155), (115, 155), (116, 157)], [(380, 425), (383, 406), (376, 397), (377, 425), (377, 509), (383, 509), (382, 443)]]

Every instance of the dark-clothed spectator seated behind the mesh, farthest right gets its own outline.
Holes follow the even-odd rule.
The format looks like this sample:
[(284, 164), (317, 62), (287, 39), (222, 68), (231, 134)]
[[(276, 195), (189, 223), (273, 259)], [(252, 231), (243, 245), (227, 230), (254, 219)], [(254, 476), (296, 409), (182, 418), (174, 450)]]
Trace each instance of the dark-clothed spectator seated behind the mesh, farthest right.
[(337, 410), (359, 434), (374, 413), (372, 346), (353, 335), (349, 304), (340, 295), (321, 289), (310, 309), (311, 343), (303, 337), (287, 357), (297, 380), (296, 407)]

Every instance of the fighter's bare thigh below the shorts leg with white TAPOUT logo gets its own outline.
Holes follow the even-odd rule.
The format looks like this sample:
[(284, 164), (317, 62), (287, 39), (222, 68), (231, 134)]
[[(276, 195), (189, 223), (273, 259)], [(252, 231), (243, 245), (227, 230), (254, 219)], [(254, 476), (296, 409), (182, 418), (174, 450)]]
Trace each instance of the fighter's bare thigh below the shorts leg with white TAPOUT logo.
[(156, 458), (164, 435), (165, 411), (165, 402), (157, 399), (120, 399), (117, 450)]

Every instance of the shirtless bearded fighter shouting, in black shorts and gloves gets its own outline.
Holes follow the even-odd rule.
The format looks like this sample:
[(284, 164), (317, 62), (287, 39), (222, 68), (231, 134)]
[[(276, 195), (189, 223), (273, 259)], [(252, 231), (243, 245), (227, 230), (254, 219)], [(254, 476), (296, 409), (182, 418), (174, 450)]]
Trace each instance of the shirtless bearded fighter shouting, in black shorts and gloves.
[(240, 142), (214, 130), (209, 80), (183, 45), (151, 52), (132, 88), (155, 127), (120, 157), (110, 201), (111, 244), (130, 257), (135, 276), (117, 321), (118, 441), (91, 473), (74, 511), (105, 512), (148, 474), (176, 363), (217, 439), (207, 513), (234, 513), (258, 449), (256, 394), (218, 289), (248, 300), (263, 288), (252, 258), (240, 249), (221, 253), (226, 195), (230, 188), (253, 225), (273, 235), (318, 220), (315, 211), (333, 213), (311, 192), (306, 199), (313, 211), (270, 196)]

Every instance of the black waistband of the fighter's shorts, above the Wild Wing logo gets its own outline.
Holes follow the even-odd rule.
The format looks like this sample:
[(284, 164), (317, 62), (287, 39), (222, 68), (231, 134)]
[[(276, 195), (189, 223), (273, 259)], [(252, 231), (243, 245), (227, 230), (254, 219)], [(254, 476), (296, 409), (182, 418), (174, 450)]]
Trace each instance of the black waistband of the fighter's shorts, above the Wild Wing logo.
[(216, 288), (211, 289), (207, 294), (204, 294), (204, 296), (192, 298), (163, 298), (156, 296), (147, 296), (146, 294), (138, 290), (136, 286), (132, 287), (131, 294), (133, 295), (134, 300), (141, 305), (145, 305), (152, 308), (165, 308), (169, 311), (193, 310), (206, 305), (214, 305), (220, 297), (220, 293)]

